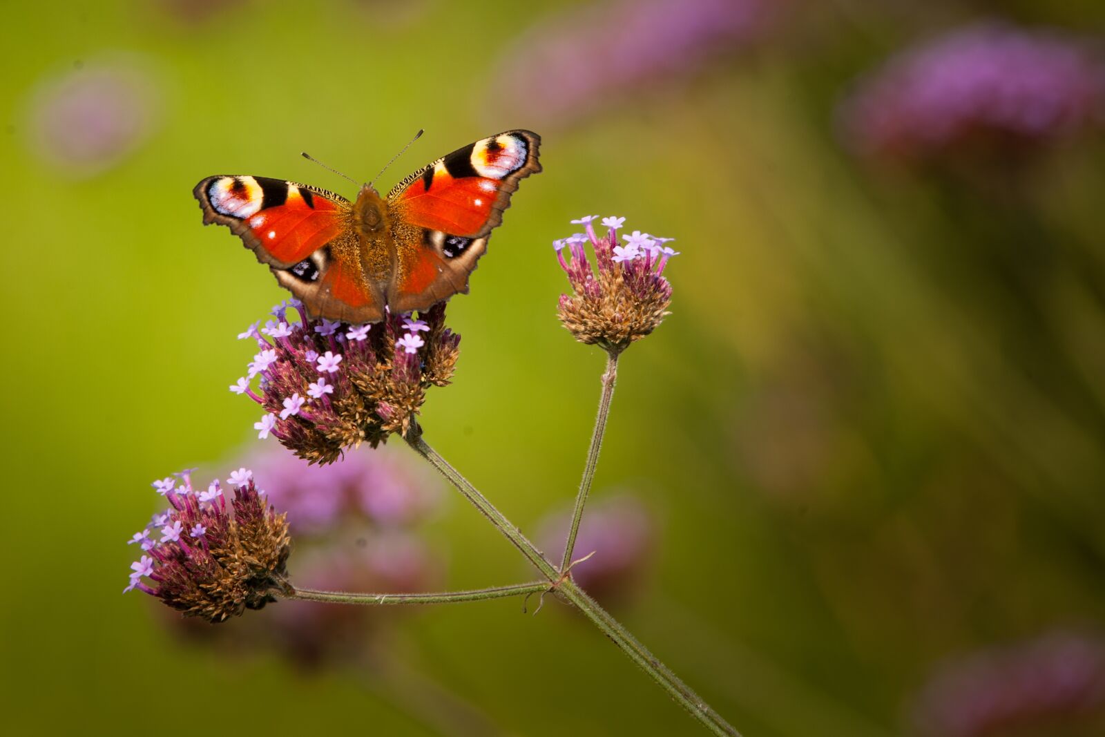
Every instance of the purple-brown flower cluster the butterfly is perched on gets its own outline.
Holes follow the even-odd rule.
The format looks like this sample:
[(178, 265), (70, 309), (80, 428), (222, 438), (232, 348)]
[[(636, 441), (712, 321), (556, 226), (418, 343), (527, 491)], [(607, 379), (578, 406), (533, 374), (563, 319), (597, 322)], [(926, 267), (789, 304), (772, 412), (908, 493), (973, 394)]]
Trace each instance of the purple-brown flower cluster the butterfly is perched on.
[[(298, 313), (290, 320), (288, 310)], [(461, 336), (445, 327), (445, 306), (415, 319), (388, 315), (366, 325), (307, 319), (298, 301), (273, 309), (275, 320), (239, 335), (257, 343), (249, 372), (230, 387), (265, 409), (254, 424), (312, 463), (333, 463), (346, 448), (372, 448), (406, 434), (431, 386), (453, 376)], [(252, 381), (259, 378), (259, 390)]]

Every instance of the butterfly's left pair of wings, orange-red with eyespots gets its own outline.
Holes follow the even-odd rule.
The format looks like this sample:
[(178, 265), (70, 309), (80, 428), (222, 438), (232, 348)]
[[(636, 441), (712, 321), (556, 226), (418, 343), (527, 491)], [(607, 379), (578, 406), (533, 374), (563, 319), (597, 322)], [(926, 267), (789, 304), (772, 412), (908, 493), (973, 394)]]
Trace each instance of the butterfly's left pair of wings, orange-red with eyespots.
[(267, 177), (208, 177), (196, 186), (204, 223), (239, 235), (314, 317), (379, 320), (383, 295), (364, 277), (350, 204), (340, 194)]

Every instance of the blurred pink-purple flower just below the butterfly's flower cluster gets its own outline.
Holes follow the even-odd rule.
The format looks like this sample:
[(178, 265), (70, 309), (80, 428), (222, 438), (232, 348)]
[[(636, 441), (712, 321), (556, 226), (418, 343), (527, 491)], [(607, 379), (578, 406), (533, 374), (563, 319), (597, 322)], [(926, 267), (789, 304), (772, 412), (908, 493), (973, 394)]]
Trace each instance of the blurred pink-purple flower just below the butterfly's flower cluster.
[(249, 464), (264, 468), (269, 499), (287, 512), (292, 531), (299, 537), (344, 522), (401, 527), (425, 517), (436, 503), (438, 481), (406, 460), (379, 448), (320, 466), (267, 445)]

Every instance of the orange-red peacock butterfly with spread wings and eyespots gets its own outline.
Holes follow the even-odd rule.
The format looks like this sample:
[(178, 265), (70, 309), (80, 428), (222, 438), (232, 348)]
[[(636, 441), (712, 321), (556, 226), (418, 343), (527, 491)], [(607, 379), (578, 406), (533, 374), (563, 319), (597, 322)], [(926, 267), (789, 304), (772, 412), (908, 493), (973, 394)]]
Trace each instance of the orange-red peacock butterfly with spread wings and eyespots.
[(228, 225), (313, 318), (375, 323), (469, 291), (469, 274), (518, 181), (541, 170), (540, 137), (507, 130), (396, 185), (340, 194), (267, 177), (208, 177), (203, 223)]

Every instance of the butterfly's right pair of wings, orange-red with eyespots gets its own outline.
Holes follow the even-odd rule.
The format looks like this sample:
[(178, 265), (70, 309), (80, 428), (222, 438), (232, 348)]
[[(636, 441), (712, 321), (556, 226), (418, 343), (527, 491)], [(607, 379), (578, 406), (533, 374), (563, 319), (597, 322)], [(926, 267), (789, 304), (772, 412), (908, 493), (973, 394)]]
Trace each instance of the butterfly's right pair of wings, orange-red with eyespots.
[(459, 148), (388, 192), (396, 269), (388, 287), (394, 312), (425, 309), (457, 292), (487, 250), (518, 181), (541, 170), (540, 136), (507, 130)]

